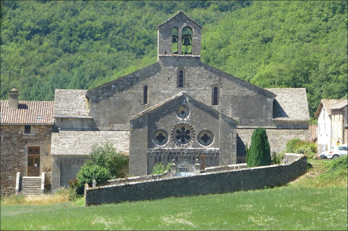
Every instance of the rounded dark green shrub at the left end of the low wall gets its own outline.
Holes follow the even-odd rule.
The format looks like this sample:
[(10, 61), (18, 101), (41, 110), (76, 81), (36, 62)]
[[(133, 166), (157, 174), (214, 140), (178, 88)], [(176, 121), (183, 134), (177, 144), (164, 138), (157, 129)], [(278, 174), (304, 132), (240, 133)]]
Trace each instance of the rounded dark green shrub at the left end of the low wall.
[(83, 189), (85, 183), (92, 186), (93, 180), (97, 183), (110, 180), (111, 176), (107, 169), (99, 165), (84, 165), (80, 168), (80, 171), (76, 174), (76, 179), (78, 181), (77, 193), (79, 195), (83, 194)]

